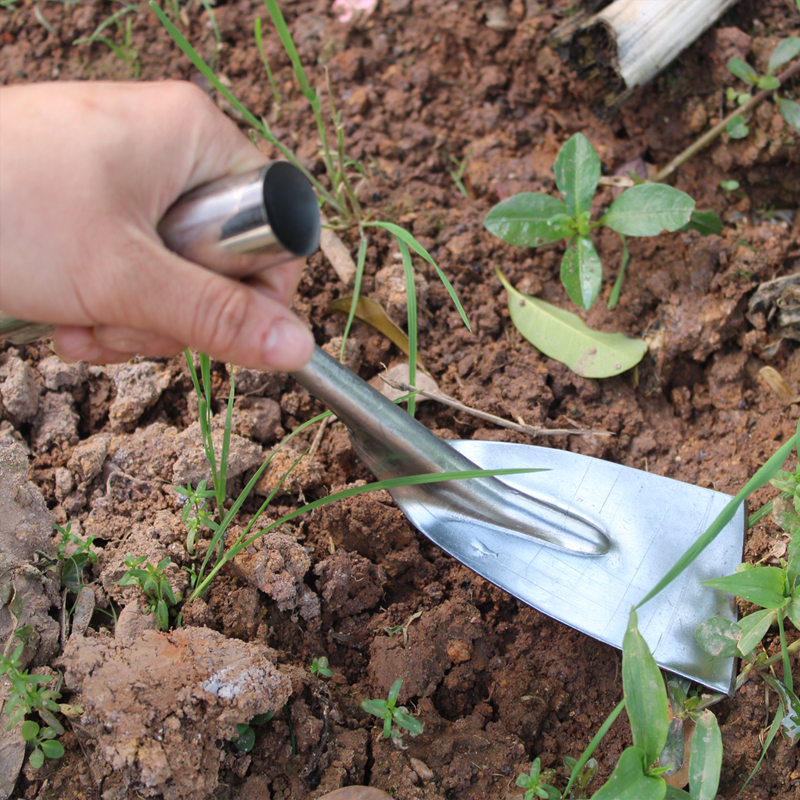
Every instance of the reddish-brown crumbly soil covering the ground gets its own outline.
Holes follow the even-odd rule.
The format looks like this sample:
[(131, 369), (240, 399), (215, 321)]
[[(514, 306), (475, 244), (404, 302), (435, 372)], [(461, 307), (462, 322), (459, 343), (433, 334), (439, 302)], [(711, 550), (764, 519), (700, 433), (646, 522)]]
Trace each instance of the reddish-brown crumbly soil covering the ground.
[[(364, 167), (359, 197), (374, 218), (402, 224), (433, 254), (472, 322), (470, 333), (433, 271), (418, 264), (420, 356), (442, 390), (530, 425), (577, 424), (614, 434), (537, 443), (735, 493), (793, 435), (800, 416), (800, 349), (777, 331), (774, 307), (748, 309), (761, 283), (800, 267), (800, 135), (775, 106), (759, 107), (747, 138), (723, 136), (677, 173), (678, 188), (723, 218), (722, 234), (629, 240), (631, 262), (614, 312), (605, 301), (619, 241), (597, 237), (606, 275), (600, 300), (583, 317), (604, 330), (644, 335), (650, 344), (638, 368), (619, 377), (578, 377), (522, 339), (493, 268), (520, 290), (574, 310), (558, 280), (560, 251), (505, 245), (482, 220), (510, 194), (554, 191), (553, 160), (577, 131), (592, 141), (608, 174), (637, 159), (666, 164), (719, 119), (734, 80), (725, 69), (729, 57), (748, 56), (763, 67), (778, 38), (800, 35), (796, 4), (741, 0), (608, 118), (592, 110), (595, 84), (578, 80), (551, 41), (574, 5), (385, 0), (367, 18), (346, 23), (328, 0), (286, 0), (282, 7), (310, 74), (323, 86), (323, 69), (330, 75), (348, 155)], [(117, 8), (20, 0), (2, 9), (0, 80), (129, 80), (136, 70), (141, 79), (205, 86), (145, 4), (128, 17), (132, 63), (100, 42), (72, 44)], [(189, 40), (210, 58), (209, 14), (197, 2), (182, 9)], [(254, 18), (268, 19), (262, 4), (220, 4), (214, 15), (222, 37), (219, 73), (321, 175), (312, 117), (265, 24), (279, 114), (273, 104), (252, 36)], [(122, 42), (113, 26), (107, 32)], [(465, 164), (466, 196), (451, 176), (458, 164)], [(739, 181), (741, 189), (723, 191), (723, 179)], [(604, 189), (598, 208), (611, 197)], [(352, 234), (343, 236), (355, 252)], [(363, 290), (401, 321), (385, 272), (396, 269), (397, 258), (388, 236), (373, 231)], [(295, 308), (320, 344), (341, 336), (343, 318), (325, 309), (348, 294), (321, 254), (309, 260)], [(365, 325), (354, 327), (352, 341), (352, 363), (364, 378), (401, 360), (388, 339)], [(14, 797), (305, 800), (366, 784), (399, 800), (519, 798), (514, 780), (534, 757), (555, 769), (563, 786), (564, 757), (580, 755), (621, 698), (616, 650), (476, 577), (418, 534), (386, 494), (327, 506), (282, 526), (238, 559), (203, 600), (184, 608), (183, 628), (154, 631), (138, 588), (118, 581), (127, 554), (145, 554), (152, 563), (168, 557), (173, 589), (186, 591), (182, 568), (192, 558), (184, 546), (182, 498), (172, 487), (210, 476), (185, 363), (65, 366), (45, 343), (7, 346), (1, 359), (0, 468), (4, 485), (16, 488), (2, 495), (0, 521), (17, 526), (0, 530), (3, 541), (13, 540), (4, 545), (10, 560), (0, 562), (2, 580), (15, 581), (20, 596), (28, 593), (27, 620), (39, 632), (38, 652), (26, 655), (31, 666), (57, 668), (67, 702), (84, 709), (61, 737), (66, 755), (39, 770), (26, 764)], [(788, 398), (762, 379), (765, 366), (788, 382)], [(230, 380), (239, 395), (232, 494), (285, 432), (322, 409), (285, 376), (223, 364), (214, 365), (213, 375), (216, 411)], [(445, 438), (532, 441), (434, 402), (420, 404), (419, 417)], [(301, 436), (295, 453), (313, 437), (314, 429)], [(295, 457), (285, 457), (287, 466)], [(26, 469), (30, 482), (20, 477)], [(277, 485), (282, 470), (276, 470), (262, 479), (239, 524)], [(369, 478), (335, 423), (268, 516)], [(757, 492), (752, 507), (775, 494)], [(52, 580), (59, 538), (48, 541), (53, 520), (95, 537), (88, 617), (79, 621), (76, 613), (71, 632), (67, 601)], [(749, 531), (746, 559), (777, 563), (782, 542), (767, 518)], [(74, 597), (67, 599), (71, 604)], [(5, 641), (12, 621), (0, 611)], [(791, 626), (788, 633), (798, 636)], [(767, 636), (771, 651), (776, 640), (777, 632)], [(331, 678), (310, 672), (321, 656)], [(792, 664), (800, 679), (796, 659)], [(407, 749), (382, 738), (359, 707), (364, 698), (385, 697), (398, 677), (400, 701), (425, 726), (422, 735), (405, 737)], [(800, 798), (797, 752), (780, 737), (737, 794), (775, 707), (757, 680), (715, 707), (725, 750), (723, 800)], [(249, 752), (229, 743), (237, 723), (267, 711), (275, 716), (253, 726)], [(0, 740), (0, 753), (6, 744)], [(596, 753), (594, 786), (628, 744), (622, 715)], [(16, 754), (17, 761), (5, 762), (17, 764), (14, 776)]]

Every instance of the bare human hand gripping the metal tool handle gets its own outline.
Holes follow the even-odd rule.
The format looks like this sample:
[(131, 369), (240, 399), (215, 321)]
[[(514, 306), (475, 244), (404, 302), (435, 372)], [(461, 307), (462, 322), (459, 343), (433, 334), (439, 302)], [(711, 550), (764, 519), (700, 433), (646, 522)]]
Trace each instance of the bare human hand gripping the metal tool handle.
[(164, 247), (177, 198), (266, 159), (187, 82), (0, 89), (0, 309), (57, 326), (65, 361), (126, 361), (190, 346), (291, 371), (310, 331), (288, 309), (303, 267), (243, 281)]

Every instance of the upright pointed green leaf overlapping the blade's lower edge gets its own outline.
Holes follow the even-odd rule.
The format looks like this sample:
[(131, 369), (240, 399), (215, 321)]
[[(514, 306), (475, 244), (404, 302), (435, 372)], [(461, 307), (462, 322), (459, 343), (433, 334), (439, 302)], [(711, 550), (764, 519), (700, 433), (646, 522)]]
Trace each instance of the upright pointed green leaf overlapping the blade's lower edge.
[(658, 758), (667, 741), (669, 709), (661, 670), (639, 632), (636, 610), (631, 609), (622, 640), (622, 688), (631, 723), (634, 747), (641, 748), (646, 764)]

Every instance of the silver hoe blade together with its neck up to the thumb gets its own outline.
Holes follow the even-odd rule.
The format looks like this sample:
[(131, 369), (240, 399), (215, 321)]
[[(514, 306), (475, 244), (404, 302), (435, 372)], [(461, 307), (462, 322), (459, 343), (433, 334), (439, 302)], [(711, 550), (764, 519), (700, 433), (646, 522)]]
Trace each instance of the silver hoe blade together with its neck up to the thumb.
[[(378, 478), (536, 467), (547, 472), (402, 487), (392, 496), (431, 541), (528, 605), (615, 647), (630, 608), (702, 534), (727, 495), (600, 459), (503, 442), (445, 442), (320, 350), (299, 383), (347, 425)], [(700, 581), (741, 562), (745, 509), (639, 610), (656, 661), (730, 693), (733, 659), (708, 656), (694, 630), (737, 619), (730, 596)]]

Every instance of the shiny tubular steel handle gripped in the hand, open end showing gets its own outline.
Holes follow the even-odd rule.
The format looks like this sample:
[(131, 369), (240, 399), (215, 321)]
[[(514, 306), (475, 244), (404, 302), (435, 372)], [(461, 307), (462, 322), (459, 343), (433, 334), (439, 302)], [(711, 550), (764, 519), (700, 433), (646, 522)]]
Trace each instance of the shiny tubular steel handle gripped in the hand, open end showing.
[[(179, 198), (158, 226), (164, 243), (184, 258), (243, 278), (319, 247), (320, 216), (305, 175), (286, 161), (200, 186)], [(53, 325), (0, 312), (0, 339), (26, 344)]]

